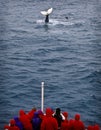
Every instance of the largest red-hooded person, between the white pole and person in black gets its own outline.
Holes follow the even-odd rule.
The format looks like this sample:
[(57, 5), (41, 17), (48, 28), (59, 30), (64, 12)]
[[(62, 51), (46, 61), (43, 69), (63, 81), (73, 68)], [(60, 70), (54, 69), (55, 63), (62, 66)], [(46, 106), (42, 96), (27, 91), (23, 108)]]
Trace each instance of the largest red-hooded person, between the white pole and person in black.
[(50, 108), (46, 108), (46, 116), (42, 120), (41, 130), (58, 130), (58, 123), (52, 117), (52, 110)]

